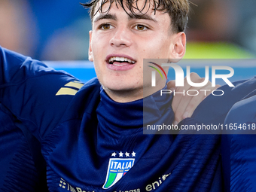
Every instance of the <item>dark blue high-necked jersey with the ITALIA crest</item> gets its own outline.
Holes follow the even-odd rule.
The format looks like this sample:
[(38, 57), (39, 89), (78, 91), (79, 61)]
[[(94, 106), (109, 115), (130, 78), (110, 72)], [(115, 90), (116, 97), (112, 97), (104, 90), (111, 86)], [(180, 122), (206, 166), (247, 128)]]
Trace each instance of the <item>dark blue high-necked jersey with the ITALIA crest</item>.
[[(114, 102), (96, 78), (82, 84), (2, 48), (0, 63), (2, 108), (40, 142), (48, 190), (221, 190), (220, 135), (146, 135), (142, 99)], [(152, 117), (159, 117), (154, 123), (172, 123), (171, 96), (154, 93), (146, 99)], [(201, 122), (200, 117), (196, 112), (183, 123)]]

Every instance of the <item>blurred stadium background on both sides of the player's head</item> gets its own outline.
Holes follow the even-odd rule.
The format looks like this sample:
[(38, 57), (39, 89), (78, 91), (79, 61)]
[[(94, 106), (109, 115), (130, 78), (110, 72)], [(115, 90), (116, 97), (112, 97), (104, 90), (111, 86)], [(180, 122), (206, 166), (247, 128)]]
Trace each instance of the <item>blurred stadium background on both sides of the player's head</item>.
[[(87, 60), (81, 0), (0, 0), (0, 45), (40, 60)], [(255, 58), (255, 0), (191, 0), (185, 58)]]

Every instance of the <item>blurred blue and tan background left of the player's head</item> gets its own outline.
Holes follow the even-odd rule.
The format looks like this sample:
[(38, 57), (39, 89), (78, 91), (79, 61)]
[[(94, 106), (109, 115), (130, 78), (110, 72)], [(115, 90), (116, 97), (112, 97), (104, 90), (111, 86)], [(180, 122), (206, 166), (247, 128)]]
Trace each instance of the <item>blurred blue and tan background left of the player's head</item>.
[(87, 59), (88, 11), (79, 0), (0, 0), (0, 45), (34, 59)]

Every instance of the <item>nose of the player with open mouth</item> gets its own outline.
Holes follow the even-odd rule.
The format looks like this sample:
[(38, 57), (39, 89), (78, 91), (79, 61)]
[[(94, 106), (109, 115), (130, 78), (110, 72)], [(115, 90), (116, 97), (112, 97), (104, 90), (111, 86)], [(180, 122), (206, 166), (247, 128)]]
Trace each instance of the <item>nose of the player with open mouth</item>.
[(125, 27), (115, 29), (114, 36), (110, 39), (111, 46), (130, 47), (132, 44), (130, 30)]

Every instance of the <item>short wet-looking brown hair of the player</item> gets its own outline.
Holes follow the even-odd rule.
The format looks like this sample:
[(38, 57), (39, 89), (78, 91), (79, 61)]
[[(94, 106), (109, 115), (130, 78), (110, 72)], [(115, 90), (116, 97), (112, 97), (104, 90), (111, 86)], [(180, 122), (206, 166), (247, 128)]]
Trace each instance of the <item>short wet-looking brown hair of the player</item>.
[[(98, 2), (101, 2), (99, 9), (95, 11), (96, 5)], [(155, 11), (163, 11), (163, 13), (168, 13), (169, 17), (172, 20), (172, 30), (173, 32), (184, 32), (187, 26), (187, 17), (189, 13), (189, 3), (187, 0), (145, 0), (145, 5), (142, 9), (139, 9), (137, 2), (140, 0), (91, 0), (90, 3), (81, 3), (84, 8), (90, 8), (90, 18), (93, 21), (94, 15), (98, 11), (102, 11), (102, 6), (105, 5), (107, 2), (110, 2), (109, 8), (106, 12), (108, 12), (111, 8), (112, 3), (116, 5), (120, 5), (124, 11), (128, 8), (133, 15), (136, 15), (135, 11), (139, 11), (142, 13), (146, 9), (146, 5), (150, 5), (149, 2), (153, 3), (153, 10)], [(149, 10), (150, 6), (148, 7)], [(129, 14), (126, 12), (126, 14)]]

